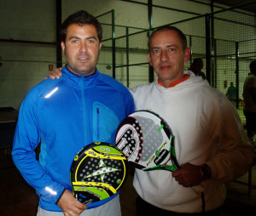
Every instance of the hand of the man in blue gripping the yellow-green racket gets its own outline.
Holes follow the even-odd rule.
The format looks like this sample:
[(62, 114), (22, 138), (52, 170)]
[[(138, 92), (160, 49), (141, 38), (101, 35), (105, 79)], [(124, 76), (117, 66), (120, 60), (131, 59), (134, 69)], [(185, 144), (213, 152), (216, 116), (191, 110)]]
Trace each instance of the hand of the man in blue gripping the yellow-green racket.
[(65, 216), (79, 216), (79, 214), (87, 207), (83, 203), (77, 201), (73, 197), (73, 193), (69, 190), (65, 190), (57, 205), (61, 207)]

